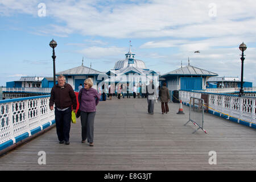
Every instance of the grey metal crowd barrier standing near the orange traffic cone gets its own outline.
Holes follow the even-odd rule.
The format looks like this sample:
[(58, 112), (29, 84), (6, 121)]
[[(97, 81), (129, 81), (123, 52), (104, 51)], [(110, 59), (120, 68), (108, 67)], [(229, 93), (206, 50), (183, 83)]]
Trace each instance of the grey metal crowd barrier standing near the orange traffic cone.
[[(191, 121), (194, 125), (199, 126), (199, 128), (196, 129), (193, 133), (195, 133), (199, 129), (202, 129), (204, 133), (207, 133), (207, 131), (204, 130), (204, 100), (203, 99), (190, 97), (188, 122), (189, 121)], [(187, 125), (187, 123), (185, 123), (184, 126)]]

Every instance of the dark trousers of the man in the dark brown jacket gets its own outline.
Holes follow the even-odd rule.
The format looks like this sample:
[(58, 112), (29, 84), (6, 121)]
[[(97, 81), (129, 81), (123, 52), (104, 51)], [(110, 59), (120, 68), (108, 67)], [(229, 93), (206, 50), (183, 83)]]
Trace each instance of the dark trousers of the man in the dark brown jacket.
[(56, 131), (59, 141), (69, 141), (69, 131), (71, 127), (71, 107), (60, 111), (55, 107)]

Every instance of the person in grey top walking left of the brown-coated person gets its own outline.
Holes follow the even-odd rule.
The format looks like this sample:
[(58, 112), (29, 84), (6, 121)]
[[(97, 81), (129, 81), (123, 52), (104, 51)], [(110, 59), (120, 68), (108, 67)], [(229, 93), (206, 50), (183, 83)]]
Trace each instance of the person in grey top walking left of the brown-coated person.
[(150, 84), (148, 84), (146, 87), (148, 114), (154, 114), (155, 91), (156, 90), (153, 81), (150, 80)]

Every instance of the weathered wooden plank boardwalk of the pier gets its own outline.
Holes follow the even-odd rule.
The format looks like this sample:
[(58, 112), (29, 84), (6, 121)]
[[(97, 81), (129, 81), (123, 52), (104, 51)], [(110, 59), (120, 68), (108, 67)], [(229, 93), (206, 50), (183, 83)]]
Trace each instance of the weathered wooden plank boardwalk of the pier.
[[(226, 119), (205, 114), (205, 134), (196, 133), (184, 115), (147, 114), (142, 98), (100, 102), (94, 123), (94, 147), (81, 143), (81, 123), (72, 123), (70, 145), (59, 144), (55, 127), (0, 158), (4, 170), (255, 170), (256, 131)], [(46, 165), (38, 164), (38, 152), (46, 152)], [(209, 164), (216, 151), (217, 164)]]

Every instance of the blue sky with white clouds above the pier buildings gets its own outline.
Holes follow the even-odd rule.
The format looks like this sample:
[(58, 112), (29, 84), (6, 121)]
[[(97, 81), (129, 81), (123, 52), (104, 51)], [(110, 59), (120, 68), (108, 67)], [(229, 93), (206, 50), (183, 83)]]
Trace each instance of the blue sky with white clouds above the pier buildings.
[[(0, 85), (82, 64), (107, 72), (129, 51), (164, 73), (188, 64), (256, 85), (254, 0), (0, 0)], [(200, 53), (195, 53), (200, 51)]]

